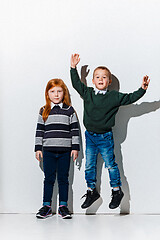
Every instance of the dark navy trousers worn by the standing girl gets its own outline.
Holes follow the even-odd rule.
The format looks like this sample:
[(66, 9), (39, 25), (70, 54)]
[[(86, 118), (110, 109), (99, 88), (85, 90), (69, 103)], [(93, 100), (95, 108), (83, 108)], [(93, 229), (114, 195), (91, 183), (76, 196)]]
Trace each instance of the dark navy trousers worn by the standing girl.
[(53, 186), (56, 179), (59, 187), (59, 203), (68, 201), (68, 176), (70, 167), (71, 152), (43, 152), (43, 170), (44, 170), (44, 192), (43, 203), (52, 202)]

